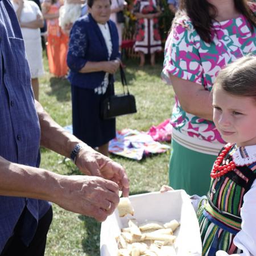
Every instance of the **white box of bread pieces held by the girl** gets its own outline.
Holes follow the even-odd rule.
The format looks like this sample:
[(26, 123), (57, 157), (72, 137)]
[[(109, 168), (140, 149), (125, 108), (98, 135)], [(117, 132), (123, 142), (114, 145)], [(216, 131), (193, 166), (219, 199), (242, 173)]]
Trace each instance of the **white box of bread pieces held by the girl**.
[(121, 198), (101, 225), (101, 256), (199, 256), (195, 210), (183, 190)]

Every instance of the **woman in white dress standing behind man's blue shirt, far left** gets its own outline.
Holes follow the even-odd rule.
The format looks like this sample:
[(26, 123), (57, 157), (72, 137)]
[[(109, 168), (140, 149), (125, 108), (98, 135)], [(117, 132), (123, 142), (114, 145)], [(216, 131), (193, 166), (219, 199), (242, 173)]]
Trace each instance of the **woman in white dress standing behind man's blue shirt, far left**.
[(33, 1), (13, 0), (13, 6), (22, 30), (34, 96), (39, 100), (38, 77), (44, 74), (40, 35), (40, 28), (44, 26), (43, 15)]

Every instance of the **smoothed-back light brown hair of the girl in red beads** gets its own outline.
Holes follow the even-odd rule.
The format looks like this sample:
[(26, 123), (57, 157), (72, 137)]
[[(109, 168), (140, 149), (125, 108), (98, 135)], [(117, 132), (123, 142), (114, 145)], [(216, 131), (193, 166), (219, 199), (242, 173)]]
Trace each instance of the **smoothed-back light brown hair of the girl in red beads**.
[(214, 88), (236, 96), (253, 97), (256, 101), (256, 56), (241, 57), (226, 65), (214, 82)]

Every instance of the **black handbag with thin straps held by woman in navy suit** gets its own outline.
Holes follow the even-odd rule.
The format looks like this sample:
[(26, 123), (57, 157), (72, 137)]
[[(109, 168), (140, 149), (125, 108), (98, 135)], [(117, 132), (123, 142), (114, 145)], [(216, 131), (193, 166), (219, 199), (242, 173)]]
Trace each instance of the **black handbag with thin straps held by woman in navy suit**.
[[(117, 94), (105, 98), (101, 102), (101, 118), (110, 119), (118, 117), (119, 115), (126, 115), (136, 113), (136, 102), (135, 97), (129, 93), (129, 89), (126, 82), (125, 72), (120, 65), (120, 75), (123, 85), (123, 94)], [(109, 84), (109, 86), (114, 86), (114, 84)], [(127, 88), (127, 93), (125, 92), (125, 86)]]

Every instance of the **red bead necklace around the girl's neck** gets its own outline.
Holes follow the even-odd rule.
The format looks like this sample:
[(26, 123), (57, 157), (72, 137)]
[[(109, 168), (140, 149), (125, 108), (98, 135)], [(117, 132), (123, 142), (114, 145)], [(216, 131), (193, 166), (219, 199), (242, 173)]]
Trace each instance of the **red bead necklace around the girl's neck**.
[(212, 172), (210, 172), (210, 177), (216, 179), (217, 177), (221, 177), (236, 168), (236, 164), (233, 161), (230, 161), (227, 164), (223, 164), (222, 166), (220, 165), (221, 163), (223, 163), (226, 154), (228, 154), (230, 148), (232, 148), (233, 146), (233, 144), (227, 144), (224, 147), (224, 150), (221, 151), (220, 155), (218, 155), (217, 159), (213, 164)]

